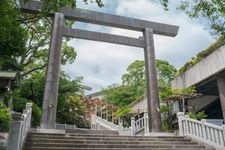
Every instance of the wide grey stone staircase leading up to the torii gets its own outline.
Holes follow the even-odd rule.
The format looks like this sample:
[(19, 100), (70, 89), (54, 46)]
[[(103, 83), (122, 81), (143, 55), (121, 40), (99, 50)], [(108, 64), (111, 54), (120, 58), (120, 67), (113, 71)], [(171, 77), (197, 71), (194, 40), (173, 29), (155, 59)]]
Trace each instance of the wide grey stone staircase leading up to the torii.
[(182, 136), (120, 136), (116, 131), (77, 130), (34, 133), (23, 150), (213, 150)]

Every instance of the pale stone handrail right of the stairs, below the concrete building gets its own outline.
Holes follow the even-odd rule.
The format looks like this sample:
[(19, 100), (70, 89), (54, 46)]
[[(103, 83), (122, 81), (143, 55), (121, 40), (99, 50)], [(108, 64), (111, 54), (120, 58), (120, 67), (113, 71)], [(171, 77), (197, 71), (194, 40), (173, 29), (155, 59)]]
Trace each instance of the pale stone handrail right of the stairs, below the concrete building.
[(189, 136), (195, 140), (211, 145), (217, 149), (225, 149), (225, 126), (217, 126), (202, 121), (197, 121), (179, 112), (179, 134)]

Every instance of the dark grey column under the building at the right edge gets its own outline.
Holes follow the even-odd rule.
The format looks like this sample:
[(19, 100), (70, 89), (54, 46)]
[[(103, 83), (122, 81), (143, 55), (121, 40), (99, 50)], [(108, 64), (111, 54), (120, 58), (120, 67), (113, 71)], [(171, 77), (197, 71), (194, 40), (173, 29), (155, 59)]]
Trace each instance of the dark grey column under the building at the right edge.
[(225, 121), (225, 72), (217, 76), (217, 85), (219, 90), (223, 119)]

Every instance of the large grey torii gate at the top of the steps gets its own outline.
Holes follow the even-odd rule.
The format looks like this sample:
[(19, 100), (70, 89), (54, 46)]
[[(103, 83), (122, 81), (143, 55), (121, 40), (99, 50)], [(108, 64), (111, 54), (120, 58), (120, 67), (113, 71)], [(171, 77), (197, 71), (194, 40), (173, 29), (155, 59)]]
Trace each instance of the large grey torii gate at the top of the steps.
[[(41, 5), (40, 1), (29, 1), (21, 4), (21, 10), (28, 13), (39, 13)], [(54, 16), (54, 26), (50, 42), (41, 127), (55, 128), (62, 39), (63, 37), (73, 37), (144, 48), (149, 131), (160, 132), (161, 118), (158, 110), (160, 106), (153, 34), (174, 37), (177, 35), (178, 26), (67, 7), (50, 15)], [(135, 30), (142, 32), (144, 38), (69, 29), (64, 26), (64, 19)]]

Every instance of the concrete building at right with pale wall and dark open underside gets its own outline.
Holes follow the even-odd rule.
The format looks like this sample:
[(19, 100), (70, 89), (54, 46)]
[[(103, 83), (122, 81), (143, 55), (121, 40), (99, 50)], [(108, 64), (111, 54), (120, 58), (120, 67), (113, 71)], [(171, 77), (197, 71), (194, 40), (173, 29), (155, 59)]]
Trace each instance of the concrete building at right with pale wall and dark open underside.
[(208, 119), (225, 118), (225, 45), (202, 59), (172, 81), (172, 87), (196, 87), (203, 96), (187, 100), (192, 111), (204, 110)]

